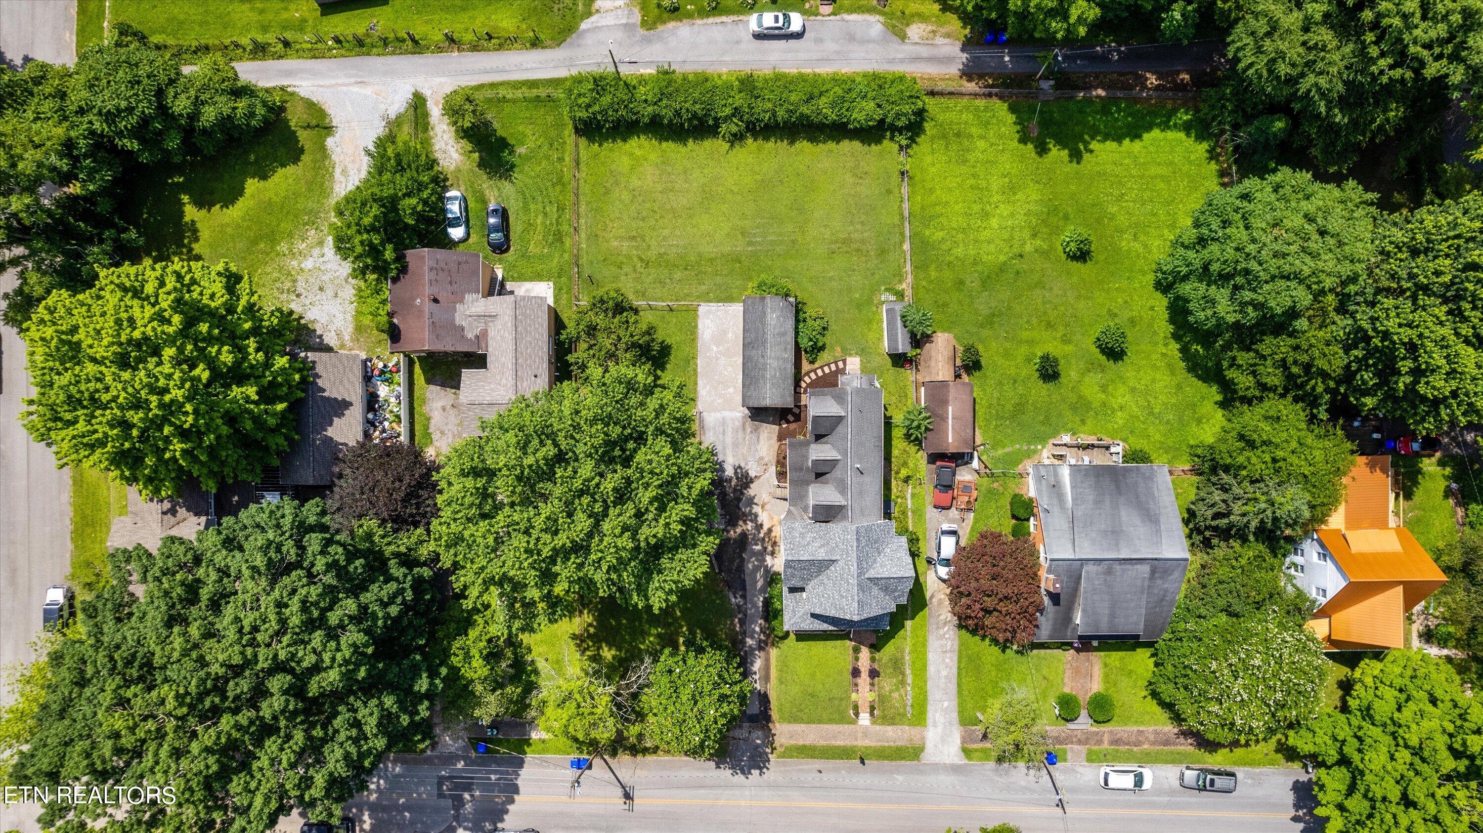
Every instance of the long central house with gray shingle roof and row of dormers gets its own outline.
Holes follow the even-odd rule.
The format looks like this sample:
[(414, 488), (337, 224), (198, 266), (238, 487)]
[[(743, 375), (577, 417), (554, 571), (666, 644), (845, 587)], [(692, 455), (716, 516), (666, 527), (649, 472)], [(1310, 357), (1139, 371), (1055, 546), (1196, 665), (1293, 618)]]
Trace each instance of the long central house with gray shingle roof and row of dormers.
[(783, 625), (884, 630), (916, 572), (882, 514), (885, 403), (875, 376), (808, 391), (807, 436), (787, 440)]

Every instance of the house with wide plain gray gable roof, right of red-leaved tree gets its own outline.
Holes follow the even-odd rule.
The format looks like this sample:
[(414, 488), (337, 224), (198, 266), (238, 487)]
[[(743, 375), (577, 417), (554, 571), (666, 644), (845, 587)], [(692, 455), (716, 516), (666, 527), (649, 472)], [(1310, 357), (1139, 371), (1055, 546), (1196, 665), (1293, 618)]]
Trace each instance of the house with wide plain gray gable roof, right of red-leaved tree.
[(1152, 640), (1189, 566), (1167, 465), (1031, 465), (1046, 608), (1037, 642)]

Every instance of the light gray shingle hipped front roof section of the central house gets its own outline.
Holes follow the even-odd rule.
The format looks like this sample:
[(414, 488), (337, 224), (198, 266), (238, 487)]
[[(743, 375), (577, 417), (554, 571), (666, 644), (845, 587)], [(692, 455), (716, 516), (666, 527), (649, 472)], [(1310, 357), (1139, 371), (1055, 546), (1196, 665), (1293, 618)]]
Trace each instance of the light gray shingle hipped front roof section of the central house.
[(783, 522), (783, 625), (882, 630), (916, 580), (906, 538), (890, 520)]

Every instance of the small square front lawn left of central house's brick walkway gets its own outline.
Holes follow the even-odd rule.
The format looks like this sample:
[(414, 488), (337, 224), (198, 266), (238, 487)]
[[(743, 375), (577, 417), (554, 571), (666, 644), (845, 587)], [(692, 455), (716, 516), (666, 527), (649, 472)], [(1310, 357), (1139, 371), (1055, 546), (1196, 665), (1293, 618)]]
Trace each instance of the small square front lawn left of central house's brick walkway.
[(773, 720), (854, 723), (850, 714), (850, 640), (790, 634), (773, 645)]

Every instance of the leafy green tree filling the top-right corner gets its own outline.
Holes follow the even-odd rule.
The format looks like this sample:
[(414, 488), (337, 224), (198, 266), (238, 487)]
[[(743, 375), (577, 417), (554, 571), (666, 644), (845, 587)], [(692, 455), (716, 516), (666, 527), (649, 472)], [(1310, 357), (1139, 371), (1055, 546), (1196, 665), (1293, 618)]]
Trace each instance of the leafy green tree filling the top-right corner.
[(1226, 86), (1246, 116), (1290, 113), (1296, 144), (1339, 170), (1476, 84), (1480, 39), (1479, 0), (1253, 0), (1231, 30)]

